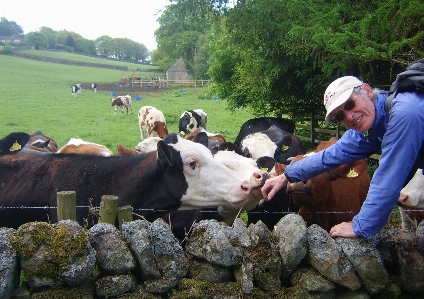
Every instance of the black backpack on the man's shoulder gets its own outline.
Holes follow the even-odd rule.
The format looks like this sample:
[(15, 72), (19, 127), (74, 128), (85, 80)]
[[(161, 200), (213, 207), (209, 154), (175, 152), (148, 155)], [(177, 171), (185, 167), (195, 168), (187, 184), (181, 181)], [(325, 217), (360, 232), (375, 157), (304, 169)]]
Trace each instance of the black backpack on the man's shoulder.
[(384, 104), (387, 114), (392, 107), (393, 98), (402, 91), (424, 92), (424, 59), (410, 63), (404, 72), (396, 76), (396, 80), (388, 91), (390, 95)]

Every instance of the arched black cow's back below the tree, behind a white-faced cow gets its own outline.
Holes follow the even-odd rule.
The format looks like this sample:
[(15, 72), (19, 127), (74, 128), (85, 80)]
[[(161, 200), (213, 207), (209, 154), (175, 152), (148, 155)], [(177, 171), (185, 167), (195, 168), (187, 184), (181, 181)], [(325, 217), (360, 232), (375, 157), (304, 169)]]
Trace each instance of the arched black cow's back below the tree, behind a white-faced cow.
[(294, 134), (295, 124), (290, 119), (277, 117), (259, 117), (249, 119), (241, 126), (240, 131), (234, 140), (234, 144), (240, 146), (241, 140), (247, 135), (265, 131), (272, 126)]

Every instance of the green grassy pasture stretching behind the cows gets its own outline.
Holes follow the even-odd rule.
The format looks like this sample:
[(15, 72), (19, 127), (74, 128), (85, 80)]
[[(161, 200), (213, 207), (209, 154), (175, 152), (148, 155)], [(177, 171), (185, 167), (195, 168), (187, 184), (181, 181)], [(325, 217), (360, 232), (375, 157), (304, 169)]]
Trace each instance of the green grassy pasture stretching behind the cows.
[[(38, 55), (43, 53), (35, 52)], [(69, 53), (55, 53), (55, 57), (60, 57), (61, 54), (64, 59), (101, 63), (100, 60), (102, 63), (109, 63), (103, 59)], [(178, 132), (178, 120), (184, 110), (201, 108), (208, 113), (207, 130), (221, 133), (230, 141), (235, 139), (240, 126), (253, 117), (249, 111), (230, 112), (226, 109), (225, 100), (215, 100), (213, 97), (205, 99), (206, 87), (156, 87), (146, 92), (137, 92), (134, 88), (134, 92), (127, 92), (120, 91), (119, 84), (116, 84), (114, 92), (117, 95), (129, 93), (132, 96), (133, 114), (126, 115), (119, 111), (114, 116), (110, 105), (111, 91), (102, 91), (101, 85), (119, 82), (123, 77), (129, 78), (133, 72), (130, 67), (128, 71), (119, 71), (62, 65), (8, 55), (0, 55), (0, 64), (2, 136), (16, 131), (32, 133), (41, 130), (54, 138), (59, 147), (75, 137), (103, 144), (117, 153), (117, 144), (133, 148), (140, 141), (137, 113), (145, 105), (161, 110), (169, 132), (175, 133)], [(143, 66), (133, 64), (132, 67), (135, 70)], [(147, 77), (151, 73), (139, 72), (136, 75)], [(99, 85), (97, 93), (88, 89), (92, 82)], [(81, 83), (83, 87), (76, 98), (71, 95), (71, 85), (75, 83)], [(126, 89), (130, 90), (131, 87)], [(136, 95), (141, 96), (142, 100), (136, 101)]]

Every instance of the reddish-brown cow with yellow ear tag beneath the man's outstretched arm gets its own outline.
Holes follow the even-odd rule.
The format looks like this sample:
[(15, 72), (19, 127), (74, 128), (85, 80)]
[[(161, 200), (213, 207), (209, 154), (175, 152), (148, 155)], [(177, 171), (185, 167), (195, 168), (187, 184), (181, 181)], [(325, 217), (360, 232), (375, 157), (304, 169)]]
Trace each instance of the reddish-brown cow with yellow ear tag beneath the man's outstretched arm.
[[(331, 138), (322, 142), (315, 152), (336, 141)], [(299, 155), (293, 161), (303, 157)], [(329, 231), (336, 224), (351, 221), (361, 209), (371, 182), (366, 167), (365, 159), (344, 164), (306, 182), (288, 183), (287, 193), (301, 207), (300, 215), (308, 225), (318, 224)]]

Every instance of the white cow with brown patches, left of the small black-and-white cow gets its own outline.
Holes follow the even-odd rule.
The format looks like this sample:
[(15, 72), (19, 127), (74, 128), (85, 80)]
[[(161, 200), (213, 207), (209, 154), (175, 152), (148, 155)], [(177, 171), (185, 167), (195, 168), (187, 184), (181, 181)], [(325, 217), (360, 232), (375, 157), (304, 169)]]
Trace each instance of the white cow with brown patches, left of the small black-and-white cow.
[(164, 138), (168, 135), (165, 116), (162, 111), (153, 106), (140, 108), (138, 111), (138, 125), (142, 141), (148, 137)]

